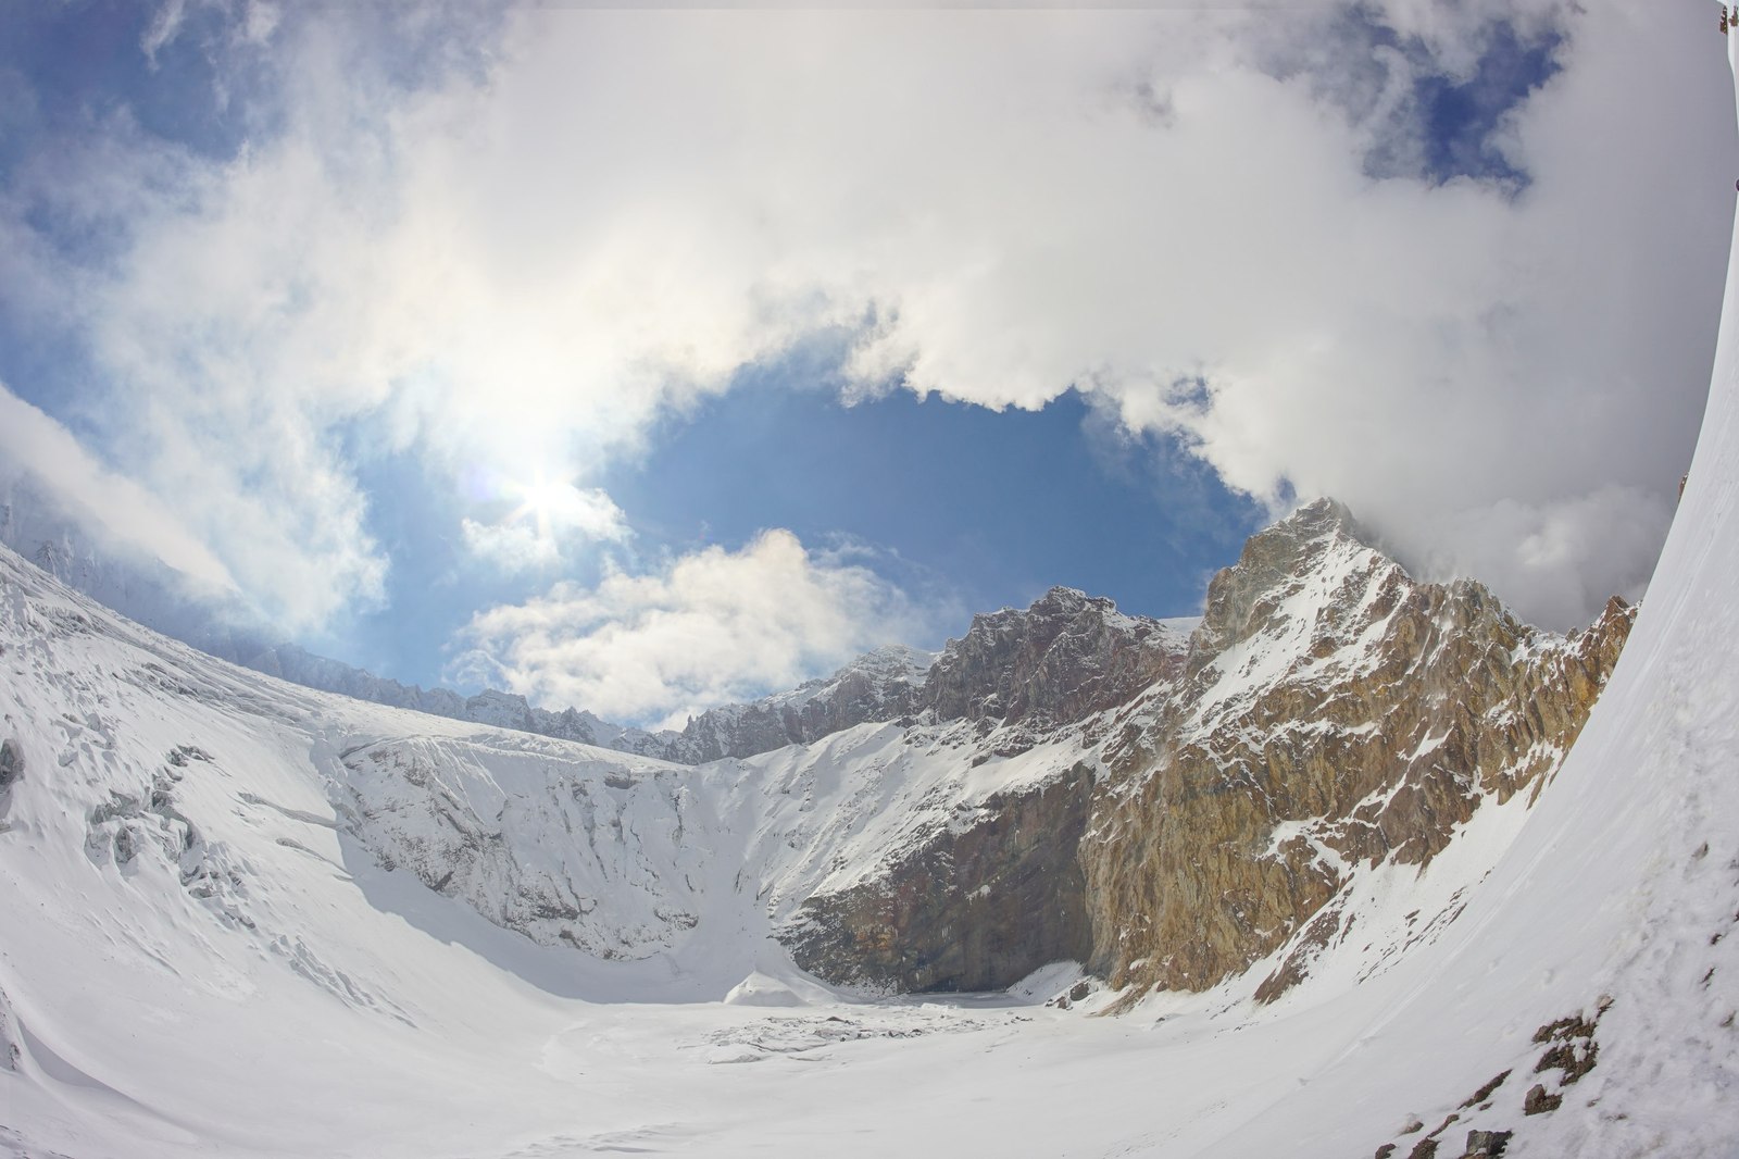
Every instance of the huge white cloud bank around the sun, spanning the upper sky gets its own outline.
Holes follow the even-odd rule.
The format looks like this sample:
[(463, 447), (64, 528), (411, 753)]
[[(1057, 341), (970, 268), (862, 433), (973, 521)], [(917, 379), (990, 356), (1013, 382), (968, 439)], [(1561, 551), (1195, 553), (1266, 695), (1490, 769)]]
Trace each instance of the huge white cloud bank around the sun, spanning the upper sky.
[[(0, 294), (87, 341), (82, 430), (283, 620), (379, 599), (358, 428), (590, 486), (817, 331), (857, 393), (1090, 392), (1537, 621), (1652, 567), (1730, 214), (1702, 12), (252, 10), (271, 131), (221, 164), (120, 122), (43, 151)], [(377, 19), (414, 28), (346, 24)], [(1419, 84), (1501, 37), (1558, 71), (1476, 143), (1511, 176), (1443, 179)], [(118, 240), (70, 259), (31, 224), (68, 212)]]

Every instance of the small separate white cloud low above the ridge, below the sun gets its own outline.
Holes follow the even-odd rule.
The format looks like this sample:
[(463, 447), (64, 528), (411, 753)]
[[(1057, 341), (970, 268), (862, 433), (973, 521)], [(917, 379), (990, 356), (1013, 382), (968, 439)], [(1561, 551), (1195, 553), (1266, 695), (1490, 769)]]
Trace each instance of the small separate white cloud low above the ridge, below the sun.
[(456, 661), (461, 680), (504, 686), (543, 705), (680, 727), (689, 713), (791, 687), (930, 625), (868, 567), (767, 531), (596, 586), (480, 613)]

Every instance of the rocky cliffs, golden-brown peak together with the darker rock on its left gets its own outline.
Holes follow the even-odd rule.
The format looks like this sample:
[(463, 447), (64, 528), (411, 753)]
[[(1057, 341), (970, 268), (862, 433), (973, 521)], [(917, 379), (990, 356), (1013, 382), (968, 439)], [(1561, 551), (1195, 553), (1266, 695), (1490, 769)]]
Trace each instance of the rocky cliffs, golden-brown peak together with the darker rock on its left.
[[(1066, 590), (979, 616), (932, 667), (909, 743), (1080, 760), (817, 894), (784, 936), (840, 981), (1009, 985), (1049, 955), (1132, 995), (1292, 943), (1273, 997), (1339, 929), (1356, 867), (1424, 865), (1482, 802), (1537, 792), (1631, 620), (1614, 600), (1569, 639), (1534, 630), (1478, 583), (1412, 580), (1334, 501), (1254, 536), (1188, 640)], [(1023, 936), (1031, 955), (984, 948)]]

